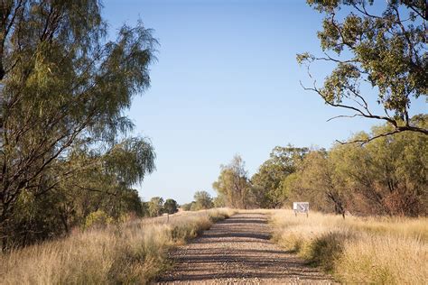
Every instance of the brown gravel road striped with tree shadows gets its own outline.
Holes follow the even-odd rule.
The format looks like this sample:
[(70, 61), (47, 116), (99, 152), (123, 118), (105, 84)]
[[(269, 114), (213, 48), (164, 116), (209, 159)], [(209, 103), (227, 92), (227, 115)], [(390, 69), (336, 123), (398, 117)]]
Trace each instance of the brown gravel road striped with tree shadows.
[(160, 283), (331, 283), (269, 238), (263, 214), (237, 214), (171, 253), (175, 262)]

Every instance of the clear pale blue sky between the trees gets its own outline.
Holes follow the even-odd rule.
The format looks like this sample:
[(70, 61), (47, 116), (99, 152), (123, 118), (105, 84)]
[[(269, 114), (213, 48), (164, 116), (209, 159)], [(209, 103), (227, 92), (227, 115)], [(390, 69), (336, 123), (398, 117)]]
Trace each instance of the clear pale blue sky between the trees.
[[(157, 170), (136, 187), (144, 200), (186, 203), (202, 189), (215, 195), (219, 165), (235, 153), (252, 175), (275, 145), (329, 148), (378, 124), (326, 122), (343, 112), (302, 90), (299, 80), (310, 81), (295, 55), (321, 52), (321, 14), (303, 0), (105, 0), (104, 6), (112, 34), (141, 19), (160, 42), (152, 87), (128, 113), (135, 134), (149, 137), (157, 153)], [(315, 70), (320, 82), (328, 70)], [(414, 112), (423, 108), (419, 102)]]

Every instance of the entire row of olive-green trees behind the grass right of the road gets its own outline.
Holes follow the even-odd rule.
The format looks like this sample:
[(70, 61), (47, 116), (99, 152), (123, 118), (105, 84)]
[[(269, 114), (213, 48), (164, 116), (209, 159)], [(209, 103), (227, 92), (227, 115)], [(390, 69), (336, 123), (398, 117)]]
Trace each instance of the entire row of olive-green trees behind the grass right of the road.
[[(426, 128), (428, 115), (412, 124)], [(290, 207), (309, 201), (312, 209), (345, 215), (425, 216), (428, 213), (428, 137), (423, 133), (387, 133), (391, 125), (358, 133), (350, 143), (330, 150), (277, 146), (248, 178), (236, 156), (221, 166), (213, 183), (222, 205), (237, 208)]]

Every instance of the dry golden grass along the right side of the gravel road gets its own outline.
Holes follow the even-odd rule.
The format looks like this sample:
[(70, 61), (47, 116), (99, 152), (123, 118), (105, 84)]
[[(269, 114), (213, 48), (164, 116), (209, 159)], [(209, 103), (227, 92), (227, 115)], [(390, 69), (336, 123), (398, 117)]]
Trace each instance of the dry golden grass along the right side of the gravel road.
[(424, 284), (428, 219), (354, 217), (275, 210), (274, 241), (346, 283)]

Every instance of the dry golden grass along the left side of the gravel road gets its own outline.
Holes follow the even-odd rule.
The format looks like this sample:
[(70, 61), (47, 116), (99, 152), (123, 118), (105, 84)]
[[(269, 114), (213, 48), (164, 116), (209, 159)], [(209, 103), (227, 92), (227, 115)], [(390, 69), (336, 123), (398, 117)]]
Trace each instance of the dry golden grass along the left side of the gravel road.
[(231, 215), (228, 209), (143, 219), (0, 254), (2, 284), (147, 283), (168, 267), (172, 246)]

